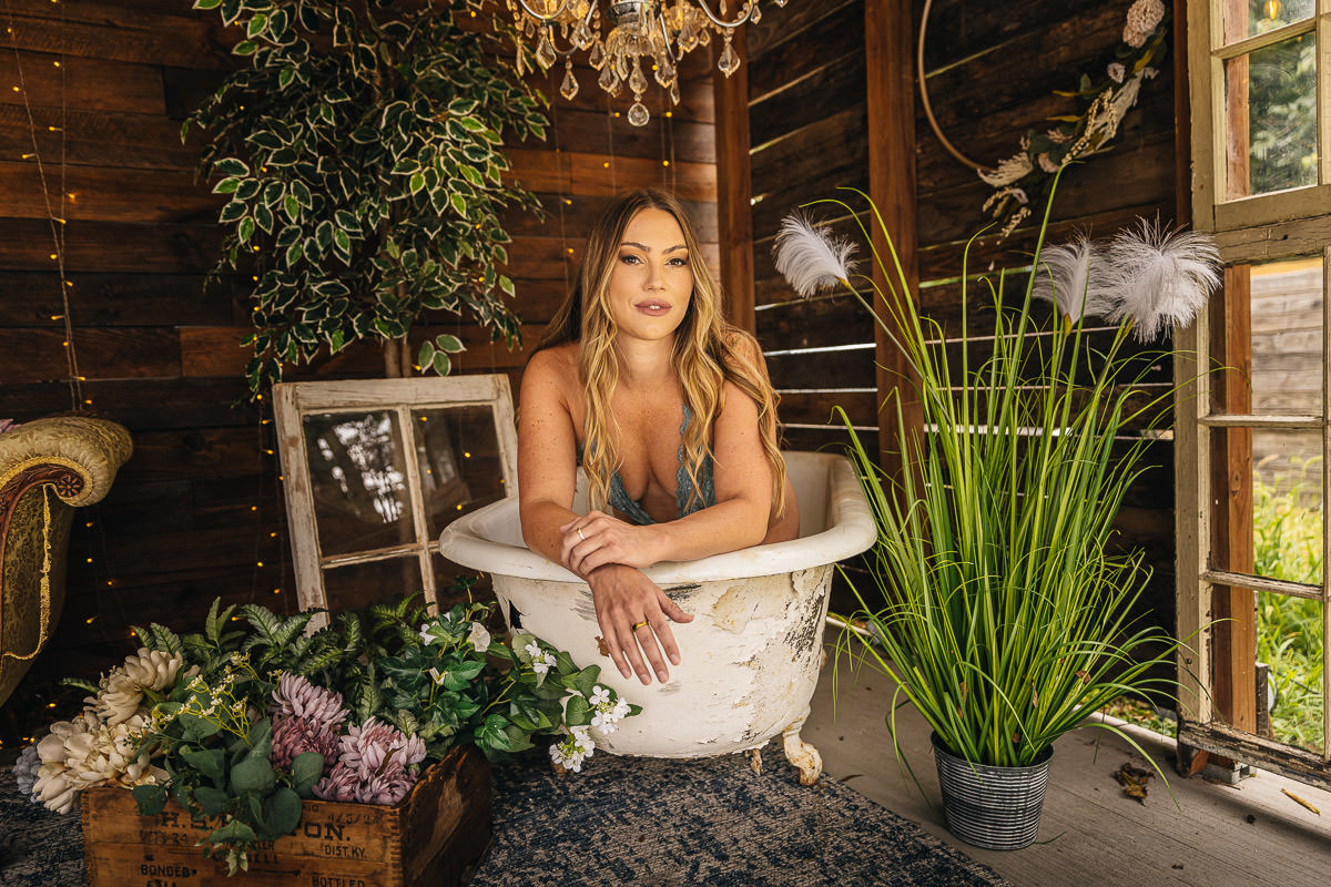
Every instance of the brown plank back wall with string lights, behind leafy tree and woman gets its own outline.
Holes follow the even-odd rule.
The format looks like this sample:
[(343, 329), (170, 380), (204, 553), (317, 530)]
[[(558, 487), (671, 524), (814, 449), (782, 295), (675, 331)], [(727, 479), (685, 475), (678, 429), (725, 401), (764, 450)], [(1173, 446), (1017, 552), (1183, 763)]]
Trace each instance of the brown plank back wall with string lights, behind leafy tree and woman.
[[(221, 243), (218, 201), (194, 181), (200, 144), (178, 138), (232, 59), (216, 13), (178, 0), (5, 8), (13, 20), (0, 33), (0, 416), (73, 406), (45, 209), (48, 193), (57, 206), (64, 193), (69, 317), (91, 402), (77, 406), (122, 422), (136, 448), (109, 496), (76, 525), (64, 618), (33, 672), (96, 674), (132, 649), (132, 622), (189, 628), (216, 596), (295, 606), (270, 414), (266, 402), (244, 403), (244, 287), (224, 279), (204, 289)], [(511, 149), (516, 177), (548, 209), (543, 222), (510, 225), (528, 344), (564, 293), (591, 218), (619, 190), (676, 189), (715, 265), (709, 60), (684, 70), (681, 105), (667, 117), (650, 96), (654, 118), (643, 129), (622, 116), (627, 102), (608, 101), (580, 70), (576, 100), (551, 108), (548, 141)], [(540, 78), (547, 94), (562, 73)], [(490, 346), (449, 318), (418, 336), (442, 330), (467, 342), (463, 371), (508, 372), (516, 383), (522, 351)], [(382, 366), (378, 350), (357, 347), (293, 378), (377, 376)]]

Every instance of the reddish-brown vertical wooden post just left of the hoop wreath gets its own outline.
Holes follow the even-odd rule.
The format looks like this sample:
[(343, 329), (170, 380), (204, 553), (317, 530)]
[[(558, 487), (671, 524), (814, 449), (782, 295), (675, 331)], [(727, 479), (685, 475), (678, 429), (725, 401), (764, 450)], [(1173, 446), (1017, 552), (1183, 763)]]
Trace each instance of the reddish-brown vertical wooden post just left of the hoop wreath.
[[(902, 298), (917, 298), (920, 290), (918, 213), (916, 205), (914, 35), (910, 0), (870, 0), (864, 4), (864, 59), (868, 86), (869, 194), (882, 215), (886, 231), (873, 231), (873, 247), (892, 266), (888, 237), (901, 262), (904, 281), (888, 281), (873, 269), (874, 282), (884, 293), (905, 283)], [(881, 299), (876, 306), (886, 317)], [(878, 403), (896, 390), (902, 391), (902, 422), (920, 428), (922, 420), (914, 392), (902, 387), (908, 376), (904, 355), (881, 327), (874, 327)], [(882, 467), (898, 473), (902, 453), (897, 444), (894, 410), (878, 412), (878, 443)]]

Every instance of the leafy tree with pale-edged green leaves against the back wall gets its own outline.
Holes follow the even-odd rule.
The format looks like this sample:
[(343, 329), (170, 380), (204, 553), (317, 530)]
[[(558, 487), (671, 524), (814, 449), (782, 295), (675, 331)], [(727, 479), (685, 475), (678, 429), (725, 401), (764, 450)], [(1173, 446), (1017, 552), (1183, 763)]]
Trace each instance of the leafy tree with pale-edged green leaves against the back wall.
[[(214, 274), (253, 275), (250, 394), (325, 346), (378, 340), (401, 354), (427, 311), (470, 317), (512, 347), (503, 219), (540, 206), (506, 181), (503, 146), (544, 138), (546, 118), (538, 93), (454, 21), (480, 0), (194, 8), (236, 25), (233, 52), (250, 61), (181, 129), (208, 132), (202, 168), (230, 195)], [(417, 364), (447, 374), (461, 350), (441, 335)]]

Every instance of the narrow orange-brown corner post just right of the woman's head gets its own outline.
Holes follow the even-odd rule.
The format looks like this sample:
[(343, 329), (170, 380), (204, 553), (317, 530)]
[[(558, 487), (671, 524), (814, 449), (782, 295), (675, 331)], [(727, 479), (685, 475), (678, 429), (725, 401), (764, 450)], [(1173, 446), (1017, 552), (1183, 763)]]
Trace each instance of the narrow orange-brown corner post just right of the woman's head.
[(729, 298), (731, 323), (753, 332), (753, 214), (749, 197), (748, 52), (744, 28), (731, 45), (740, 66), (729, 77), (713, 70), (716, 90), (716, 223), (721, 247), (721, 290)]

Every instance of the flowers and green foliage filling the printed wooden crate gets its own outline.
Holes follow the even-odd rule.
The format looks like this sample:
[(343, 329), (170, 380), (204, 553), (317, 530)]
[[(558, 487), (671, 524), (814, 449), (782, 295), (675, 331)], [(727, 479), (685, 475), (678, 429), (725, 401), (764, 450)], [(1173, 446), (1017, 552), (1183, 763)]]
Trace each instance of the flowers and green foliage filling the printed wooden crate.
[[(69, 810), (89, 785), (124, 785), (145, 815), (174, 798), (206, 823), (204, 852), (234, 874), (256, 842), (295, 830), (302, 799), (397, 803), (455, 746), (502, 761), (554, 734), (551, 758), (579, 770), (592, 729), (642, 709), (599, 685), (599, 666), (579, 669), (531, 634), (492, 638), (491, 609), (431, 617), (406, 598), (370, 608), (367, 629), (343, 613), (307, 634), (318, 610), (214, 601), (200, 633), (136, 628), (144, 649), (87, 688), (96, 696), (80, 719), (33, 746), (43, 775), (27, 789)], [(370, 745), (377, 770), (365, 769)], [(89, 754), (101, 770), (91, 781)]]

